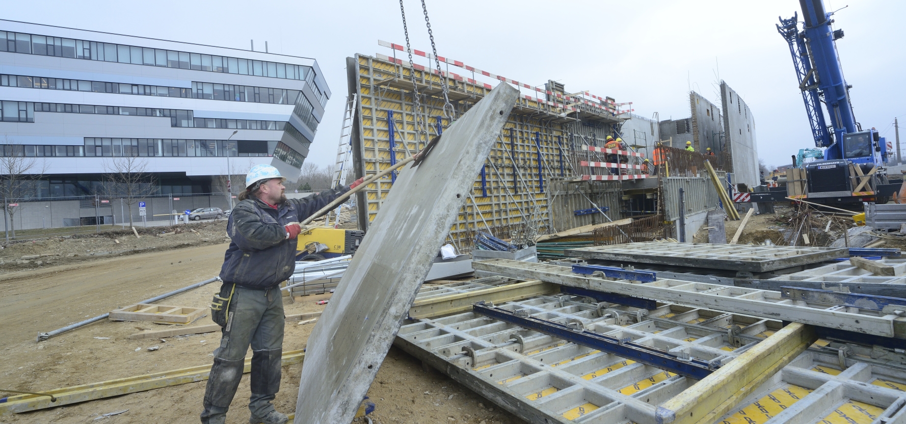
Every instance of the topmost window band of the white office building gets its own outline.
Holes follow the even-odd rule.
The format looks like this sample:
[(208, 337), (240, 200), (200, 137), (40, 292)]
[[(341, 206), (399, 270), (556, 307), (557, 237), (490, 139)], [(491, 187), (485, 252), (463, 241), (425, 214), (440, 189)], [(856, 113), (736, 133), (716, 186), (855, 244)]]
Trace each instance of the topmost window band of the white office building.
[[(322, 106), (326, 95), (314, 84), (311, 67), (240, 59), (212, 54), (175, 52), (133, 45), (97, 43), (86, 40), (0, 31), (0, 52), (40, 54), (91, 61), (131, 63), (145, 66), (191, 69), (195, 71), (238, 73), (271, 78), (304, 80), (313, 84)], [(322, 100), (323, 97), (323, 100)]]

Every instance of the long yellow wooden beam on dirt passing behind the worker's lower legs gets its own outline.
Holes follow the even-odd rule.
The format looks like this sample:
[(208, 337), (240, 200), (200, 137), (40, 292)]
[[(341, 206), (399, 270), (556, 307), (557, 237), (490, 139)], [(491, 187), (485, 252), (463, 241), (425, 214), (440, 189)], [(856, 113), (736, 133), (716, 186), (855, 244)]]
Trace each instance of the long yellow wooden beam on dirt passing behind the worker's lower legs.
[[(304, 350), (287, 351), (283, 353), (282, 365), (300, 363), (305, 359)], [(0, 403), (0, 415), (5, 413), (20, 413), (30, 410), (43, 410), (45, 408), (70, 405), (86, 400), (98, 400), (120, 396), (138, 391), (159, 389), (162, 387), (176, 386), (194, 381), (205, 381), (211, 371), (211, 365), (198, 365), (196, 367), (154, 372), (151, 374), (126, 377), (123, 379), (101, 381), (79, 386), (64, 387), (55, 390), (38, 390), (42, 393), (52, 394), (56, 401), (52, 402), (47, 396), (18, 395), (5, 398)], [(246, 359), (243, 372), (252, 371), (252, 359)]]

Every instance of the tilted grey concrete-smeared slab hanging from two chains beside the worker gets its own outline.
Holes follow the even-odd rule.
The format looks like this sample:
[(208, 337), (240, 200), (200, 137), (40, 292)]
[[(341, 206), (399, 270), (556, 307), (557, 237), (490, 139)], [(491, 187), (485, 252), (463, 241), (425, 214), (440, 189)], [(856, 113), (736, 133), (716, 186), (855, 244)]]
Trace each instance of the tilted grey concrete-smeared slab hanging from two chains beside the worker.
[(400, 172), (308, 339), (295, 424), (352, 421), (517, 96), (497, 85)]

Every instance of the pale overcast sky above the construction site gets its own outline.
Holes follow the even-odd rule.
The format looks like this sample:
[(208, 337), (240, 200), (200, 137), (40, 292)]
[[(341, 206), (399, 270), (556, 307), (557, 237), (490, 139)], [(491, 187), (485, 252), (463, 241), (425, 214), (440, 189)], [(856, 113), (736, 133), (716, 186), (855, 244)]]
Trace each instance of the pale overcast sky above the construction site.
[[(419, 2), (404, 0), (413, 48), (429, 51)], [(390, 53), (379, 39), (405, 43), (399, 2), (10, 2), (4, 18), (36, 24), (312, 57), (333, 91), (308, 159), (333, 163), (346, 97), (347, 56)], [(835, 15), (856, 120), (893, 140), (893, 118), (906, 118), (906, 2), (824, 0)], [(428, 0), (438, 53), (520, 82), (563, 82), (632, 101), (635, 113), (689, 117), (691, 88), (716, 104), (717, 82), (735, 89), (755, 115), (758, 153), (789, 163), (813, 147), (777, 16), (795, 0), (759, 1), (444, 1)], [(801, 15), (801, 13), (800, 13)], [(900, 28), (900, 29), (897, 29)], [(450, 71), (459, 72), (451, 69)], [(903, 135), (906, 139), (906, 134)], [(906, 143), (906, 140), (903, 140)]]

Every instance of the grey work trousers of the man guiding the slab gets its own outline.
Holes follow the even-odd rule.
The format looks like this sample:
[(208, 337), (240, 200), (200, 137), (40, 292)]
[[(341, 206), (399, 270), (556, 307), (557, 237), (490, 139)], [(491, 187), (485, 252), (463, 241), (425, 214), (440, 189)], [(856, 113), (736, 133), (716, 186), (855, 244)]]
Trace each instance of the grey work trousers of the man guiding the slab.
[[(229, 294), (233, 284), (224, 285)], [(253, 417), (264, 417), (274, 410), (271, 400), (280, 390), (284, 337), (280, 289), (249, 290), (237, 285), (227, 311), (226, 327), (221, 332), (223, 337), (214, 350), (214, 365), (207, 378), (201, 422), (226, 414), (242, 380), (249, 344), (252, 346), (252, 396), (248, 409)]]

